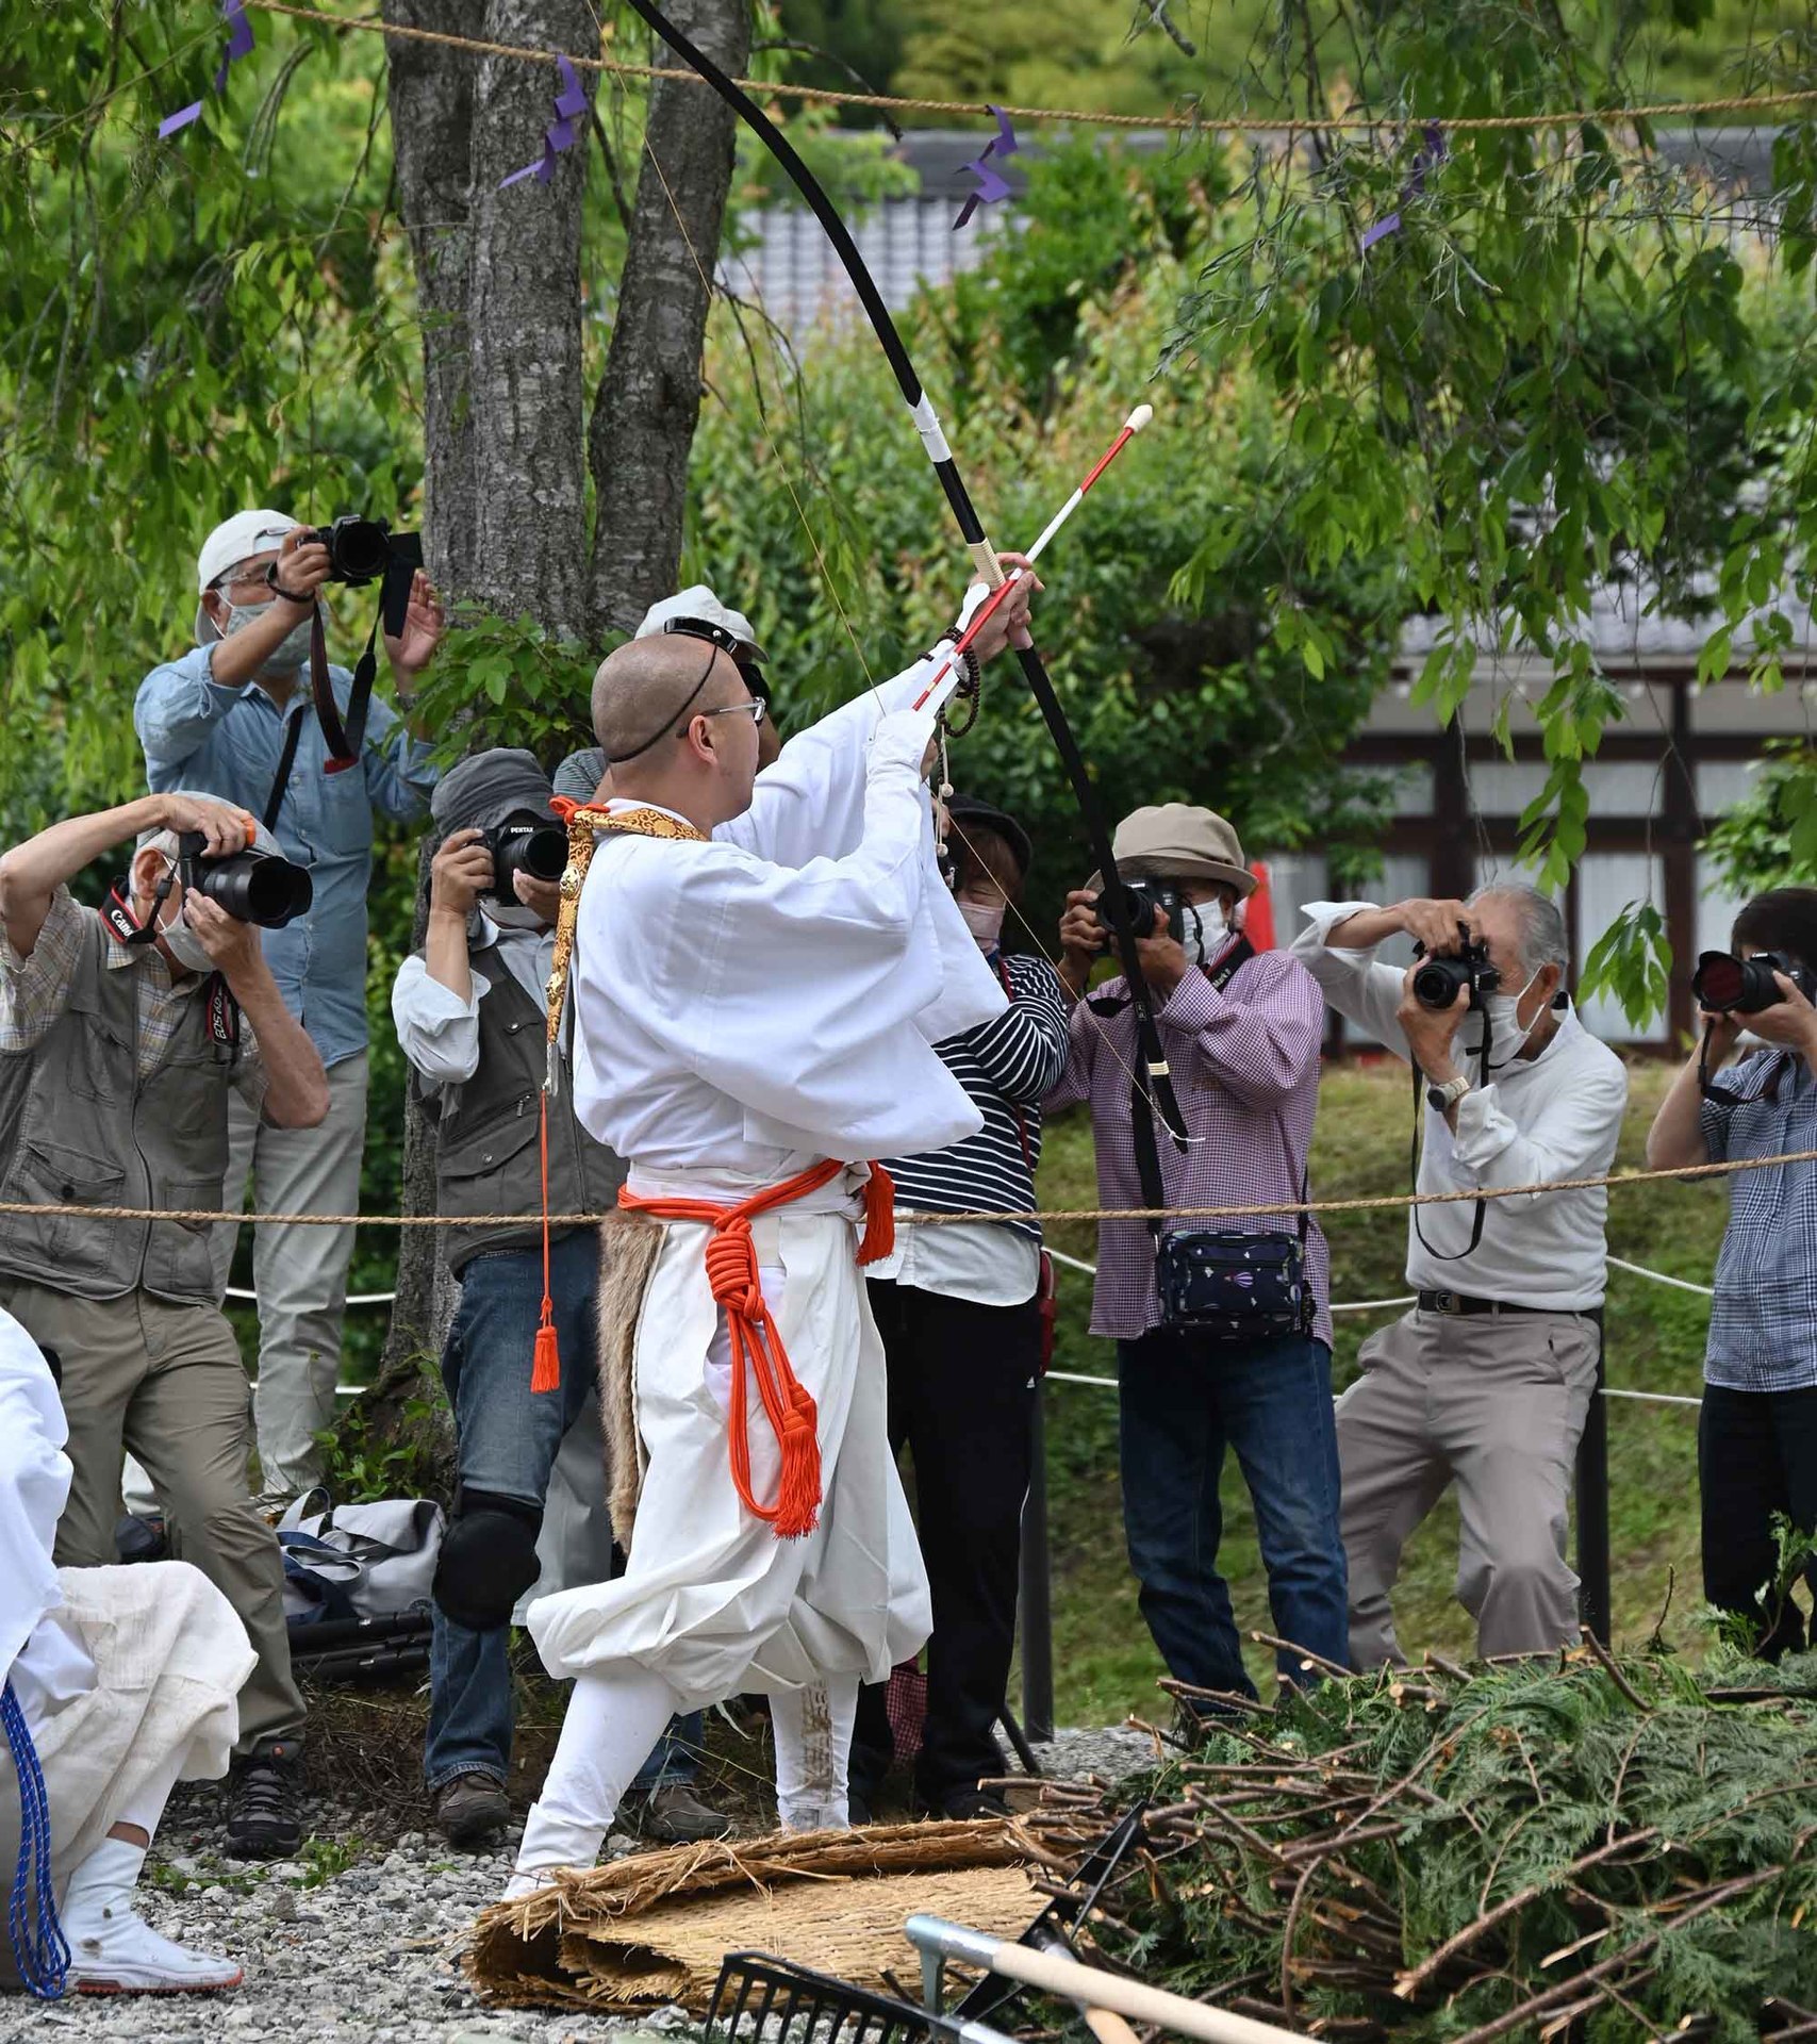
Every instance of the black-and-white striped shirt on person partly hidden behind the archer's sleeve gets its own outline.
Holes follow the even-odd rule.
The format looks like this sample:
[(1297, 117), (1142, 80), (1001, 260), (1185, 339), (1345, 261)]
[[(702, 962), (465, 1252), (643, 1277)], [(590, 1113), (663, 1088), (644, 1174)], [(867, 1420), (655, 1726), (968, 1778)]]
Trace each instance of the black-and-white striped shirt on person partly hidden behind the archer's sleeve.
[[(934, 1044), (985, 1124), (928, 1157), (889, 1157), (895, 1204), (924, 1214), (1034, 1208), (1040, 1098), (1067, 1067), (1067, 991), (1046, 959), (997, 955), (1010, 1006), (991, 1022)], [(1040, 1241), (1040, 1222), (1004, 1222)], [(948, 1233), (948, 1230), (938, 1230)]]

